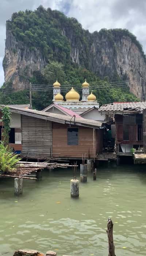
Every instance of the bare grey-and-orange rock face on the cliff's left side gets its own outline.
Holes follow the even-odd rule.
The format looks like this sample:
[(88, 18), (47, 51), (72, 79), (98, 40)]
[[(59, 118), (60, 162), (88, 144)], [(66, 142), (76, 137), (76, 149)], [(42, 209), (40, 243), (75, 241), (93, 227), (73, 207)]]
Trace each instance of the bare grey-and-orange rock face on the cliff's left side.
[(35, 70), (41, 70), (46, 66), (46, 60), (37, 48), (33, 51), (16, 38), (9, 30), (6, 30), (5, 56), (3, 69), (5, 83), (10, 82), (15, 91), (28, 88), (26, 77), (32, 77)]

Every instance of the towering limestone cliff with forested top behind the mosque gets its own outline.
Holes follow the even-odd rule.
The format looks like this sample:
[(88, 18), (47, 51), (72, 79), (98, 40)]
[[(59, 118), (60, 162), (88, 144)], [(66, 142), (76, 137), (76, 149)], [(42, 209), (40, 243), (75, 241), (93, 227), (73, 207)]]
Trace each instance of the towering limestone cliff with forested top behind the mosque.
[[(7, 22), (3, 60), (6, 86), (11, 81), (15, 90), (27, 88), (33, 72), (55, 59), (64, 65), (77, 63), (100, 78), (108, 76), (111, 81), (116, 76), (129, 79), (130, 91), (145, 99), (146, 58), (134, 36), (120, 29), (89, 33), (76, 19), (41, 8), (35, 12), (15, 13)], [(41, 17), (45, 24), (42, 29), (40, 23), (28, 21), (30, 15), (31, 19), (34, 19), (32, 15), (35, 19)]]

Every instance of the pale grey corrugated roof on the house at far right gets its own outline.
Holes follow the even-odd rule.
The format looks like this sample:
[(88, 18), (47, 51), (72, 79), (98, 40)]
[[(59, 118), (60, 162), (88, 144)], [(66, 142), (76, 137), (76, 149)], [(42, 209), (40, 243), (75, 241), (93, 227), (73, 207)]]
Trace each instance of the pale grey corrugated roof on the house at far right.
[(146, 102), (114, 102), (111, 104), (101, 106), (99, 108), (99, 111), (143, 111), (144, 109), (146, 109)]

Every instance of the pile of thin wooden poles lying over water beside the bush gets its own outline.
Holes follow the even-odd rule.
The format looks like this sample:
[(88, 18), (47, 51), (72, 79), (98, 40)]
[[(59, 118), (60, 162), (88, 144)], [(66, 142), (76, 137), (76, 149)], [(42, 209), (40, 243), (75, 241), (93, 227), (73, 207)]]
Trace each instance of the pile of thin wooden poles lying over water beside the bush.
[(25, 178), (25, 179), (36, 179), (25, 176), (32, 176), (32, 172), (37, 172), (42, 169), (54, 169), (54, 168), (68, 168), (74, 167), (69, 164), (59, 164), (57, 162), (24, 162), (19, 161), (15, 171), (7, 172), (7, 174), (1, 174), (0, 177), (14, 177), (14, 178)]

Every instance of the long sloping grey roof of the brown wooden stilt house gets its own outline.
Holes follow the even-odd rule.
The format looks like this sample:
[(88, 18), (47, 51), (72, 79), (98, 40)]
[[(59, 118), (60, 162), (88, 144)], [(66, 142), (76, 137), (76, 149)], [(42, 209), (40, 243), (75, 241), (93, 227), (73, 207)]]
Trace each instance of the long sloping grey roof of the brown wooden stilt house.
[(41, 118), (45, 120), (50, 120), (53, 122), (59, 122), (59, 123), (66, 123), (66, 124), (74, 124), (74, 125), (81, 125), (85, 127), (92, 127), (92, 128), (99, 128), (102, 125), (102, 122), (89, 120), (85, 118), (74, 118), (70, 116), (55, 114), (55, 113), (48, 113), (43, 112), (39, 110), (33, 110), (33, 109), (20, 109), (18, 107), (10, 107), (10, 110), (14, 113), (23, 114), (26, 116), (33, 116), (36, 118)]

